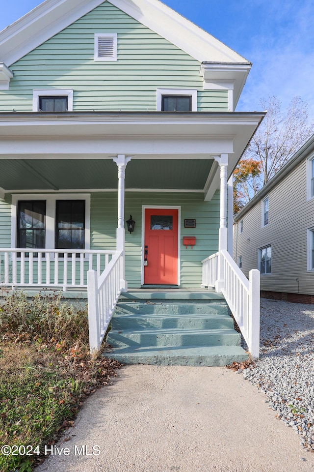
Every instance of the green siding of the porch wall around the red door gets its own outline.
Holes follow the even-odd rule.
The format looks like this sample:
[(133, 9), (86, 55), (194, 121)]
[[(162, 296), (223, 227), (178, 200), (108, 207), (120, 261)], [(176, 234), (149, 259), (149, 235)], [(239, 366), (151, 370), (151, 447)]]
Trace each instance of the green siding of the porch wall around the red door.
[[(11, 246), (11, 197), (8, 195), (7, 198), (6, 202), (0, 202), (1, 247)], [(204, 202), (203, 193), (126, 192), (125, 220), (129, 219), (131, 214), (135, 221), (134, 232), (130, 234), (126, 231), (126, 278), (129, 288), (141, 286), (142, 206), (181, 207), (181, 286), (183, 288), (200, 288), (202, 283), (201, 261), (218, 250), (219, 191), (214, 194), (210, 202)], [(91, 193), (91, 249), (115, 250), (117, 213), (118, 192)], [(191, 218), (196, 219), (196, 228), (184, 228), (184, 219)], [(193, 249), (191, 247), (185, 248), (183, 236), (196, 236), (196, 245)], [(52, 276), (53, 264), (52, 261)], [(70, 274), (70, 261), (68, 266)], [(35, 269), (34, 280), (36, 277)], [(44, 272), (43, 277), (45, 277)], [(62, 280), (60, 279), (59, 282), (62, 283)], [(70, 279), (68, 283), (70, 283)]]

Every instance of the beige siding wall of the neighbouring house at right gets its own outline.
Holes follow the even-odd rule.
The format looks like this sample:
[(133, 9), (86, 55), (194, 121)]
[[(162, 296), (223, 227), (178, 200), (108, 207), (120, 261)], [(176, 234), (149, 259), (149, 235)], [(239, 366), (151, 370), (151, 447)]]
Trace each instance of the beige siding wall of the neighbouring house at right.
[[(261, 290), (314, 295), (314, 272), (307, 271), (307, 229), (314, 227), (314, 199), (307, 201), (306, 159), (270, 190), (269, 224), (262, 227), (262, 201), (234, 228), (234, 259), (242, 256), (246, 276), (258, 267), (259, 248), (271, 244), (271, 274), (261, 274)], [(248, 240), (249, 239), (249, 240)]]

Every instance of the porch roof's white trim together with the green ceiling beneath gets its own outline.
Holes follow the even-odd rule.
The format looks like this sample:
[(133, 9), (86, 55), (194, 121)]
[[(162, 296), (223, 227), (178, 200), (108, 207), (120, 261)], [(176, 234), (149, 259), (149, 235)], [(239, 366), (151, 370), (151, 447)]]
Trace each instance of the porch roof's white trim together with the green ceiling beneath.
[[(219, 188), (214, 156), (235, 168), (264, 113), (0, 113), (0, 187), (117, 188), (112, 157), (132, 156), (126, 188)], [(1, 190), (1, 189), (0, 189)], [(3, 193), (3, 191), (1, 191)]]

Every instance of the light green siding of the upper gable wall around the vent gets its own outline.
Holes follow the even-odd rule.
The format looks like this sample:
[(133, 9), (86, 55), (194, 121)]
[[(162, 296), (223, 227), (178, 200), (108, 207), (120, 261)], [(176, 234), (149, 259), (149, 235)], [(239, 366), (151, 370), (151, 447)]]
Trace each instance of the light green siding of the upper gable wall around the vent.
[[(116, 32), (118, 60), (94, 61), (94, 33)], [(32, 111), (33, 89), (73, 89), (74, 111), (154, 111), (157, 88), (198, 90), (198, 111), (227, 111), (227, 90), (203, 90), (200, 62), (104, 2), (10, 66), (0, 111)]]

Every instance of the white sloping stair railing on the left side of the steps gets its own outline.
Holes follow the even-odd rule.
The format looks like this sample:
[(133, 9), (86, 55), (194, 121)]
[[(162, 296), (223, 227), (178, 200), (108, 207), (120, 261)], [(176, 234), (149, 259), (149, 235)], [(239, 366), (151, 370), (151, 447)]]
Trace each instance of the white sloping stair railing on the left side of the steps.
[(100, 277), (95, 270), (87, 272), (89, 348), (100, 349), (105, 332), (124, 285), (123, 252), (117, 252)]

